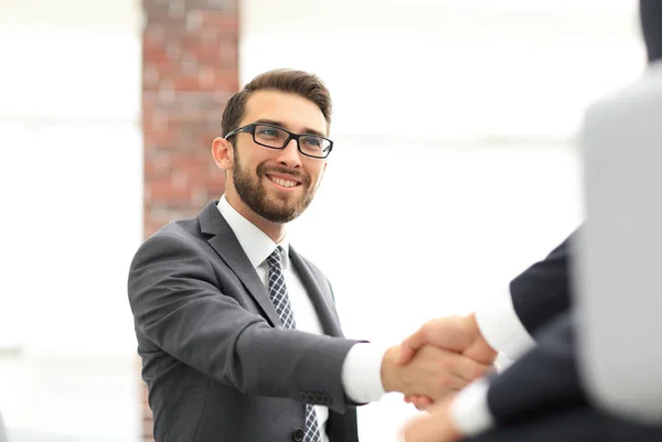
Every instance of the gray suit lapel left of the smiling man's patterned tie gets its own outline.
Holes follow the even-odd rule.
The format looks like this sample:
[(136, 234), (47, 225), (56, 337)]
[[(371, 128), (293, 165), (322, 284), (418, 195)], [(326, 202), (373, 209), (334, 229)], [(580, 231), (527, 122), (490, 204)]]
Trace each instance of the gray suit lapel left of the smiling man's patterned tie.
[(278, 312), (269, 299), (267, 289), (257, 276), (250, 260), (244, 252), (234, 231), (218, 212), (216, 202), (210, 203), (197, 216), (200, 228), (203, 234), (213, 235), (207, 242), (225, 261), (227, 267), (235, 272), (237, 278), (246, 287), (246, 290), (255, 302), (261, 308), (271, 325), (280, 325)]

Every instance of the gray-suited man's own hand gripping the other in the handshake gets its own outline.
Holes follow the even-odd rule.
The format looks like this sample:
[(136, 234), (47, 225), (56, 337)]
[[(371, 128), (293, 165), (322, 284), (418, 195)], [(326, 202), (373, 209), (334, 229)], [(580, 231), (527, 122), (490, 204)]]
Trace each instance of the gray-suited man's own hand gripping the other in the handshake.
[(384, 389), (425, 396), (431, 401), (455, 395), (491, 369), (490, 365), (429, 345), (419, 348), (407, 365), (397, 364), (399, 357), (399, 346), (386, 351), (382, 362)]

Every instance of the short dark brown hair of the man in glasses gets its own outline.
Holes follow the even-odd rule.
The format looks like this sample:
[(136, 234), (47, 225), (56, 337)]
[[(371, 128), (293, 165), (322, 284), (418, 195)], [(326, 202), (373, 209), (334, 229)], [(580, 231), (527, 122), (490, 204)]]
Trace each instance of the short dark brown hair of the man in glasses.
[(253, 78), (242, 90), (229, 98), (221, 122), (223, 137), (237, 129), (250, 95), (257, 90), (268, 89), (296, 94), (311, 100), (322, 111), (327, 126), (331, 125), (331, 95), (317, 75), (296, 69), (273, 69)]

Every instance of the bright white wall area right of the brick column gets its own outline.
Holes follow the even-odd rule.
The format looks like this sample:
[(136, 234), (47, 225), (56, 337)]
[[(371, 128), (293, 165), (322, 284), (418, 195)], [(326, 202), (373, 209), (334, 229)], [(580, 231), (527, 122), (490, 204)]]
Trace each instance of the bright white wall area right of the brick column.
[[(469, 312), (578, 225), (574, 133), (643, 66), (634, 1), (282, 4), (244, 2), (241, 83), (296, 67), (332, 93), (327, 176), (290, 236), (348, 335), (396, 343)], [(395, 441), (414, 412), (361, 408), (362, 440)]]

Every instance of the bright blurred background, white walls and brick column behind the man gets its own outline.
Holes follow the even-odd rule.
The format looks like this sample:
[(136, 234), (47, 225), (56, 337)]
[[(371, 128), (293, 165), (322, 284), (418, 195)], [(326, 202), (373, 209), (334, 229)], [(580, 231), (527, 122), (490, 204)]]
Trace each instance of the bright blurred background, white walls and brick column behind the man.
[[(633, 0), (0, 0), (0, 414), (14, 441), (149, 441), (126, 280), (223, 192), (226, 99), (317, 73), (335, 147), (289, 229), (348, 336), (508, 290), (581, 220), (575, 131), (634, 79)], [(415, 410), (359, 411), (395, 441)]]

